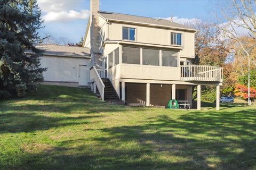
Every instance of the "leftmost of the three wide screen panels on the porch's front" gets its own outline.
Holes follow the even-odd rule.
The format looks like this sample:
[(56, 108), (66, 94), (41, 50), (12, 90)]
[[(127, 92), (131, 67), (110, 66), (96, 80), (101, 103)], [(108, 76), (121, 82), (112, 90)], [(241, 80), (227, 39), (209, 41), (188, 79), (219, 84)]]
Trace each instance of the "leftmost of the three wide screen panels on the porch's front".
[(122, 63), (140, 64), (140, 48), (122, 47)]

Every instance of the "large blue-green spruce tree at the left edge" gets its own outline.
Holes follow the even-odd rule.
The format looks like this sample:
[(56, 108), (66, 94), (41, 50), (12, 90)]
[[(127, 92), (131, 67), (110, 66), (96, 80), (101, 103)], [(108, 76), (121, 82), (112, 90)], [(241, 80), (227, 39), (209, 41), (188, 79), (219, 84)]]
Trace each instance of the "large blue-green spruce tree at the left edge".
[[(37, 32), (41, 25), (36, 0), (0, 0), (0, 99), (24, 96), (26, 89), (43, 81), (43, 50), (35, 47), (42, 42)], [(26, 50), (34, 54), (28, 56)]]

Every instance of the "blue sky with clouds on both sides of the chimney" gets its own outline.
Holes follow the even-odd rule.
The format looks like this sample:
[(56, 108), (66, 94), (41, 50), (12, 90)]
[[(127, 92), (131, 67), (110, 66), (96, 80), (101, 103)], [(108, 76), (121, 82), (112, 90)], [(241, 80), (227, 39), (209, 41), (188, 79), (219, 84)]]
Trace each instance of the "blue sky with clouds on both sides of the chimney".
[[(39, 33), (78, 43), (84, 37), (90, 15), (90, 0), (37, 0), (42, 10), (45, 28)], [(100, 0), (100, 10), (151, 18), (170, 19), (174, 22), (215, 20), (221, 0)]]

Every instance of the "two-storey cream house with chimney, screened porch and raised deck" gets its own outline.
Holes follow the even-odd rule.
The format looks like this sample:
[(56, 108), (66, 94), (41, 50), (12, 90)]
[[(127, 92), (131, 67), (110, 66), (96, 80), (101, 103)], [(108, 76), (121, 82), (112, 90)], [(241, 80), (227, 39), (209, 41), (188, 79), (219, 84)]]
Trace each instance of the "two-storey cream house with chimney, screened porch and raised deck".
[(192, 65), (196, 30), (172, 21), (99, 10), (91, 0), (83, 46), (90, 48), (90, 83), (102, 100), (166, 106), (170, 99), (188, 100), (197, 87), (217, 88), (219, 109), (222, 68)]

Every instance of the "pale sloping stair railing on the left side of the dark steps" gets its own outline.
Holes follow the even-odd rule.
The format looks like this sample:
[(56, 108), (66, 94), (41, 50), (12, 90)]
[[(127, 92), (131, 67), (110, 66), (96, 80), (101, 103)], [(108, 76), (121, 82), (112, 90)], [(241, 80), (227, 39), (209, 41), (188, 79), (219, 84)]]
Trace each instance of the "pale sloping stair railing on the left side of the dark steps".
[[(97, 69), (95, 68), (95, 66), (91, 67), (91, 69), (90, 69), (90, 78), (91, 78), (91, 83), (96, 84), (96, 86), (100, 92), (101, 99), (104, 100), (105, 85), (104, 85), (103, 81), (101, 80), (101, 77), (100, 77)], [(95, 91), (96, 91), (96, 89), (94, 89), (94, 92)]]

